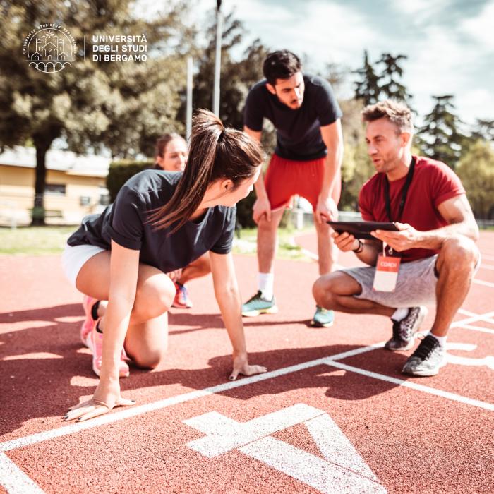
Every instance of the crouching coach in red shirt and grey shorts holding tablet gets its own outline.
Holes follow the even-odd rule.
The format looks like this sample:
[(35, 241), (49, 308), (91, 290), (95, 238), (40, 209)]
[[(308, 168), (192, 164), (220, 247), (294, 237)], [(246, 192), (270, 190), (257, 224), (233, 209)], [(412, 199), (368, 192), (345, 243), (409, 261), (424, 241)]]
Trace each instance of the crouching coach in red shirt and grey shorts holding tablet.
[[(411, 155), (413, 126), (405, 104), (386, 100), (366, 107), (362, 116), (368, 154), (378, 173), (361, 189), (361, 214), (366, 221), (395, 222), (399, 231), (376, 230), (375, 240), (365, 241), (348, 233), (333, 234), (341, 251), (354, 251), (370, 267), (322, 276), (313, 294), (327, 309), (390, 317), (393, 335), (385, 348), (392, 351), (413, 347), (427, 312), (423, 305), (435, 303), (433, 326), (403, 373), (436, 375), (445, 365), (447, 331), (480, 263), (478, 227), (454, 171)], [(379, 269), (376, 276), (383, 247), (386, 255), (401, 256), (397, 277), (389, 272), (382, 276)], [(385, 262), (384, 270), (390, 264)], [(376, 286), (392, 291), (378, 291)]]

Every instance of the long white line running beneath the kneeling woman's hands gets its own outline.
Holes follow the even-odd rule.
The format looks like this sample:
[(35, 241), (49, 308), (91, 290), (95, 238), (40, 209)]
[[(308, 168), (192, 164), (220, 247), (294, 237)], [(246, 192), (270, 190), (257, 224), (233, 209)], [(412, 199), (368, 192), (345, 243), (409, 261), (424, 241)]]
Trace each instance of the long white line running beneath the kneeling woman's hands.
[[(479, 318), (485, 318), (493, 313), (486, 313), (483, 315), (475, 315), (464, 320), (457, 321), (452, 326), (458, 326), (462, 324), (474, 323)], [(90, 421), (70, 423), (69, 425), (62, 426), (57, 429), (45, 430), (40, 433), (35, 433), (32, 435), (24, 436), (23, 438), (13, 439), (6, 442), (0, 443), (1, 451), (11, 451), (16, 450), (19, 447), (25, 447), (29, 445), (36, 444), (37, 442), (43, 442), (51, 440), (54, 438), (60, 438), (64, 435), (69, 435), (73, 433), (80, 432), (80, 430), (92, 429), (94, 427), (104, 426), (109, 423), (114, 423), (121, 421), (125, 418), (131, 418), (138, 416), (140, 414), (146, 414), (150, 411), (157, 411), (160, 409), (167, 408), (168, 406), (174, 406), (179, 403), (189, 402), (192, 399), (198, 399), (202, 397), (209, 396), (210, 394), (221, 393), (225, 391), (232, 390), (236, 387), (242, 387), (255, 382), (264, 381), (267, 379), (277, 378), (281, 375), (287, 375), (294, 372), (299, 372), (299, 370), (305, 370), (307, 368), (323, 365), (329, 361), (346, 359), (347, 357), (359, 355), (366, 353), (367, 351), (372, 351), (383, 347), (385, 342), (379, 342), (373, 345), (368, 345), (368, 347), (361, 347), (350, 351), (344, 351), (340, 354), (335, 354), (332, 356), (322, 357), (320, 359), (315, 359), (313, 361), (303, 362), (296, 364), (294, 366), (284, 367), (277, 370), (272, 370), (265, 374), (253, 375), (250, 378), (243, 378), (239, 381), (225, 382), (224, 384), (207, 387), (204, 390), (192, 391), (184, 394), (179, 394), (178, 396), (169, 397), (161, 399), (157, 402), (147, 403), (140, 406), (133, 406), (131, 408), (121, 409), (119, 411), (114, 411), (112, 414), (102, 415), (96, 418), (92, 418)]]

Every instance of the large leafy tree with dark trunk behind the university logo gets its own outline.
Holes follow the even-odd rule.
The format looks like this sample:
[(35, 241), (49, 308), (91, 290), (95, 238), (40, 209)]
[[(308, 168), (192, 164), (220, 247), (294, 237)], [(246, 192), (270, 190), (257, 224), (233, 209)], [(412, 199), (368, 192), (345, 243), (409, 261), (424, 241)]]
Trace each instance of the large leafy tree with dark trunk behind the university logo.
[[(176, 128), (176, 89), (185, 80), (185, 64), (166, 50), (171, 42), (188, 47), (190, 32), (180, 22), (184, 6), (175, 4), (152, 21), (136, 18), (131, 7), (131, 0), (0, 2), (5, 21), (0, 40), (0, 145), (31, 140), (36, 148), (33, 224), (44, 224), (45, 158), (56, 138), (76, 152), (107, 147), (114, 156), (131, 157), (167, 126)], [(19, 49), (19, 40), (47, 20), (63, 25), (78, 45), (76, 61), (56, 73), (28, 66)], [(92, 61), (92, 34), (100, 32), (145, 33), (147, 61)]]

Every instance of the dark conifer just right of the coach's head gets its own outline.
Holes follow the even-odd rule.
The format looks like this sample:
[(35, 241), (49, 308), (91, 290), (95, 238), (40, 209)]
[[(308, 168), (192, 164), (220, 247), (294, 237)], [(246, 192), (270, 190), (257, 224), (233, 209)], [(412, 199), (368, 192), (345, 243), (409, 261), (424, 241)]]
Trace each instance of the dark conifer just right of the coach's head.
[(455, 169), (466, 136), (459, 131), (462, 121), (454, 114), (453, 95), (433, 96), (435, 105), (418, 129), (418, 145), (424, 155)]

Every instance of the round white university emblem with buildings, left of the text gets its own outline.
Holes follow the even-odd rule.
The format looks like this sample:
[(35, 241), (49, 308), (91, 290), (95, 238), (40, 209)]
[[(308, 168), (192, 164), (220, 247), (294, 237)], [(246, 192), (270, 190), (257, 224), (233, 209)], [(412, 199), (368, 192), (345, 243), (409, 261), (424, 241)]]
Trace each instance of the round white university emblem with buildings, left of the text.
[(32, 30), (24, 40), (23, 53), (30, 67), (40, 72), (59, 72), (76, 59), (76, 41), (58, 24)]

